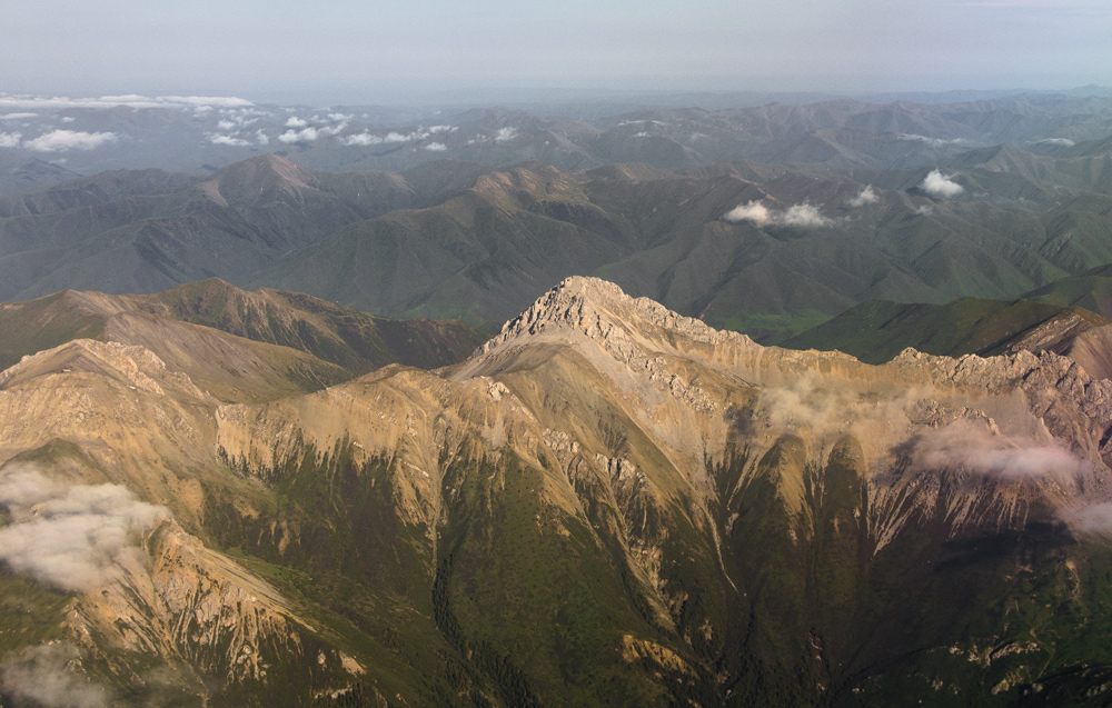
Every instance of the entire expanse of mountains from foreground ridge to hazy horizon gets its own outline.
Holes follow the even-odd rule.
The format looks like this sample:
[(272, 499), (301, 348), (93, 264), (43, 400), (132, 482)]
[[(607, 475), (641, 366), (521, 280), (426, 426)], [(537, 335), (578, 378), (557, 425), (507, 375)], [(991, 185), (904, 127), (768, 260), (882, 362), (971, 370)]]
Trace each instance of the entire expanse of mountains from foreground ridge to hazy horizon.
[(1112, 701), (1108, 91), (749, 99), (0, 93), (0, 706)]

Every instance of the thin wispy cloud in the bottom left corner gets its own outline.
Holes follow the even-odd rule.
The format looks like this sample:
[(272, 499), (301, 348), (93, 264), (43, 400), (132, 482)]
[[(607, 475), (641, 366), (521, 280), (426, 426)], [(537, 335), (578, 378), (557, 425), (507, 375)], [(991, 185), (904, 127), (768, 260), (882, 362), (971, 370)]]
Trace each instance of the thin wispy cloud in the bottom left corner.
[(0, 686), (19, 706), (44, 708), (101, 708), (111, 695), (70, 668), (79, 659), (77, 647), (54, 642), (27, 647), (0, 667)]

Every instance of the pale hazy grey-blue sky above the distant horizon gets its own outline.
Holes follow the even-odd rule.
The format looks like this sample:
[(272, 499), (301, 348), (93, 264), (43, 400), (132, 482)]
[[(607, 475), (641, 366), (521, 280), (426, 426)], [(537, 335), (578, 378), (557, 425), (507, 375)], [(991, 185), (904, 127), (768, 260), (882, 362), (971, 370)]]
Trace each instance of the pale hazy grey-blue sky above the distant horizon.
[(0, 91), (1112, 84), (1108, 0), (6, 0)]

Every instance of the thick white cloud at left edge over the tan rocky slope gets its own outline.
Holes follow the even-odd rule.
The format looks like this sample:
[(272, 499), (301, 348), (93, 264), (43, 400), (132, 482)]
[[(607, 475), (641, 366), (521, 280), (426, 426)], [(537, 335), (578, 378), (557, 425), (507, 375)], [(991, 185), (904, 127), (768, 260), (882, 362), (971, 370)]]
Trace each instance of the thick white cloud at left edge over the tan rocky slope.
[(119, 485), (68, 487), (29, 467), (0, 477), (0, 505), (13, 520), (0, 527), (0, 560), (63, 590), (90, 590), (140, 552), (133, 538), (167, 511)]

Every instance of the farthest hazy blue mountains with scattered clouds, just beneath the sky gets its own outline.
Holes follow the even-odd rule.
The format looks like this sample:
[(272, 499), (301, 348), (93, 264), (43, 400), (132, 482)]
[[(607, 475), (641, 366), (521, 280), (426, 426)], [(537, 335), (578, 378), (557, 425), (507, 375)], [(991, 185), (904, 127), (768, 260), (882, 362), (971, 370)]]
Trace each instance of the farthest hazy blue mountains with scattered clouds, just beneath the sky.
[[(275, 106), (239, 98), (0, 96), (0, 192), (73, 172), (200, 174), (277, 152), (322, 171), (407, 170), (449, 158), (560, 170), (748, 159), (838, 168), (944, 162), (1010, 143), (1056, 153), (1112, 134), (1108, 89), (983, 97), (689, 94), (545, 106)], [(703, 106), (704, 108), (692, 108)]]

